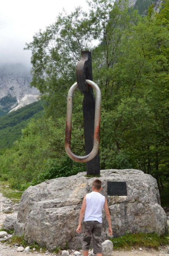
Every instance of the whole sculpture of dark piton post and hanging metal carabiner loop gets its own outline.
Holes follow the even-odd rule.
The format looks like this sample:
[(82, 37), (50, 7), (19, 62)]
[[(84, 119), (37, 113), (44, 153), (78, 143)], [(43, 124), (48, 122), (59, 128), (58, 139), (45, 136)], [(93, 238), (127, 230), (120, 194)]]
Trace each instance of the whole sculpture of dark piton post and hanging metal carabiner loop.
[[(77, 63), (76, 76), (77, 82), (71, 86), (67, 98), (65, 150), (72, 160), (77, 162), (86, 162), (87, 175), (100, 175), (99, 135), (101, 92), (99, 87), (92, 82), (91, 52), (82, 52), (82, 58)], [(79, 90), (84, 94), (83, 120), (86, 156), (77, 156), (71, 151), (73, 94), (76, 88), (79, 88)], [(93, 89), (96, 93), (96, 102)]]

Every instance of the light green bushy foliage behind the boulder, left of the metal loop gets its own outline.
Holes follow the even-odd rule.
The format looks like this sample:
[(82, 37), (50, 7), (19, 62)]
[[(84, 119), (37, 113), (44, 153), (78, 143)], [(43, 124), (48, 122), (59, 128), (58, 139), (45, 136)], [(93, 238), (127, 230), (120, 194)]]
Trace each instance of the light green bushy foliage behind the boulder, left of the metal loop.
[(71, 161), (65, 152), (64, 125), (64, 118), (57, 122), (51, 118), (29, 122), (22, 130), (22, 138), (0, 156), (2, 180), (8, 178), (14, 188), (26, 188), (47, 179), (85, 171), (85, 164), (80, 166)]

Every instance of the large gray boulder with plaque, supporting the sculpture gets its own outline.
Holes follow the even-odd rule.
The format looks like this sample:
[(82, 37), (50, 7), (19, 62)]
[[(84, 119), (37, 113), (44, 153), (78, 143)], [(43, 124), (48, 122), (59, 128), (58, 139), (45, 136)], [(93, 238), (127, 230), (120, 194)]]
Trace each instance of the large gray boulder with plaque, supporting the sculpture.
[[(24, 234), (29, 243), (35, 241), (53, 250), (68, 244), (71, 249), (82, 247), (83, 235), (76, 233), (83, 197), (92, 191), (95, 178), (85, 172), (71, 177), (47, 180), (29, 187), (22, 195), (16, 235)], [(108, 200), (113, 236), (136, 232), (167, 231), (167, 217), (160, 206), (157, 181), (140, 170), (102, 170), (101, 193)], [(125, 181), (127, 196), (107, 196), (108, 181)], [(103, 212), (102, 242), (108, 239), (108, 224)]]

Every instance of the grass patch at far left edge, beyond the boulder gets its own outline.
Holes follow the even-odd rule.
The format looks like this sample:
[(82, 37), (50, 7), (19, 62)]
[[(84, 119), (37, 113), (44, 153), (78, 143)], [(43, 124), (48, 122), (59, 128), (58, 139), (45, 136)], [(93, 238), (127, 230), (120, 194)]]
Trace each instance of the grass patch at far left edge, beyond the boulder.
[(8, 182), (0, 182), (0, 192), (4, 197), (17, 203), (20, 201), (24, 191), (13, 190), (9, 187)]

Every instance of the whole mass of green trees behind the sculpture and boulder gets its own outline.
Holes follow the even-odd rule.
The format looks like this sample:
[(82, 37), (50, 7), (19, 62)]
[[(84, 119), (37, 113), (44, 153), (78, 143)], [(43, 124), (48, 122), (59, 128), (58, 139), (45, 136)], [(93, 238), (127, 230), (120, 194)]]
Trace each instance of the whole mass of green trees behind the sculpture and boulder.
[[(108, 0), (89, 5), (88, 14), (77, 8), (71, 15), (59, 15), (27, 44), (31, 85), (48, 102), (46, 117), (30, 122), (22, 138), (0, 156), (2, 179), (26, 188), (85, 170), (85, 164), (65, 153), (65, 115), (81, 50), (92, 50), (93, 81), (102, 92), (100, 167), (143, 170), (157, 179), (161, 199), (167, 200), (169, 1), (159, 14), (149, 8), (146, 17)], [(82, 100), (77, 90), (71, 146), (78, 155), (84, 155)]]

